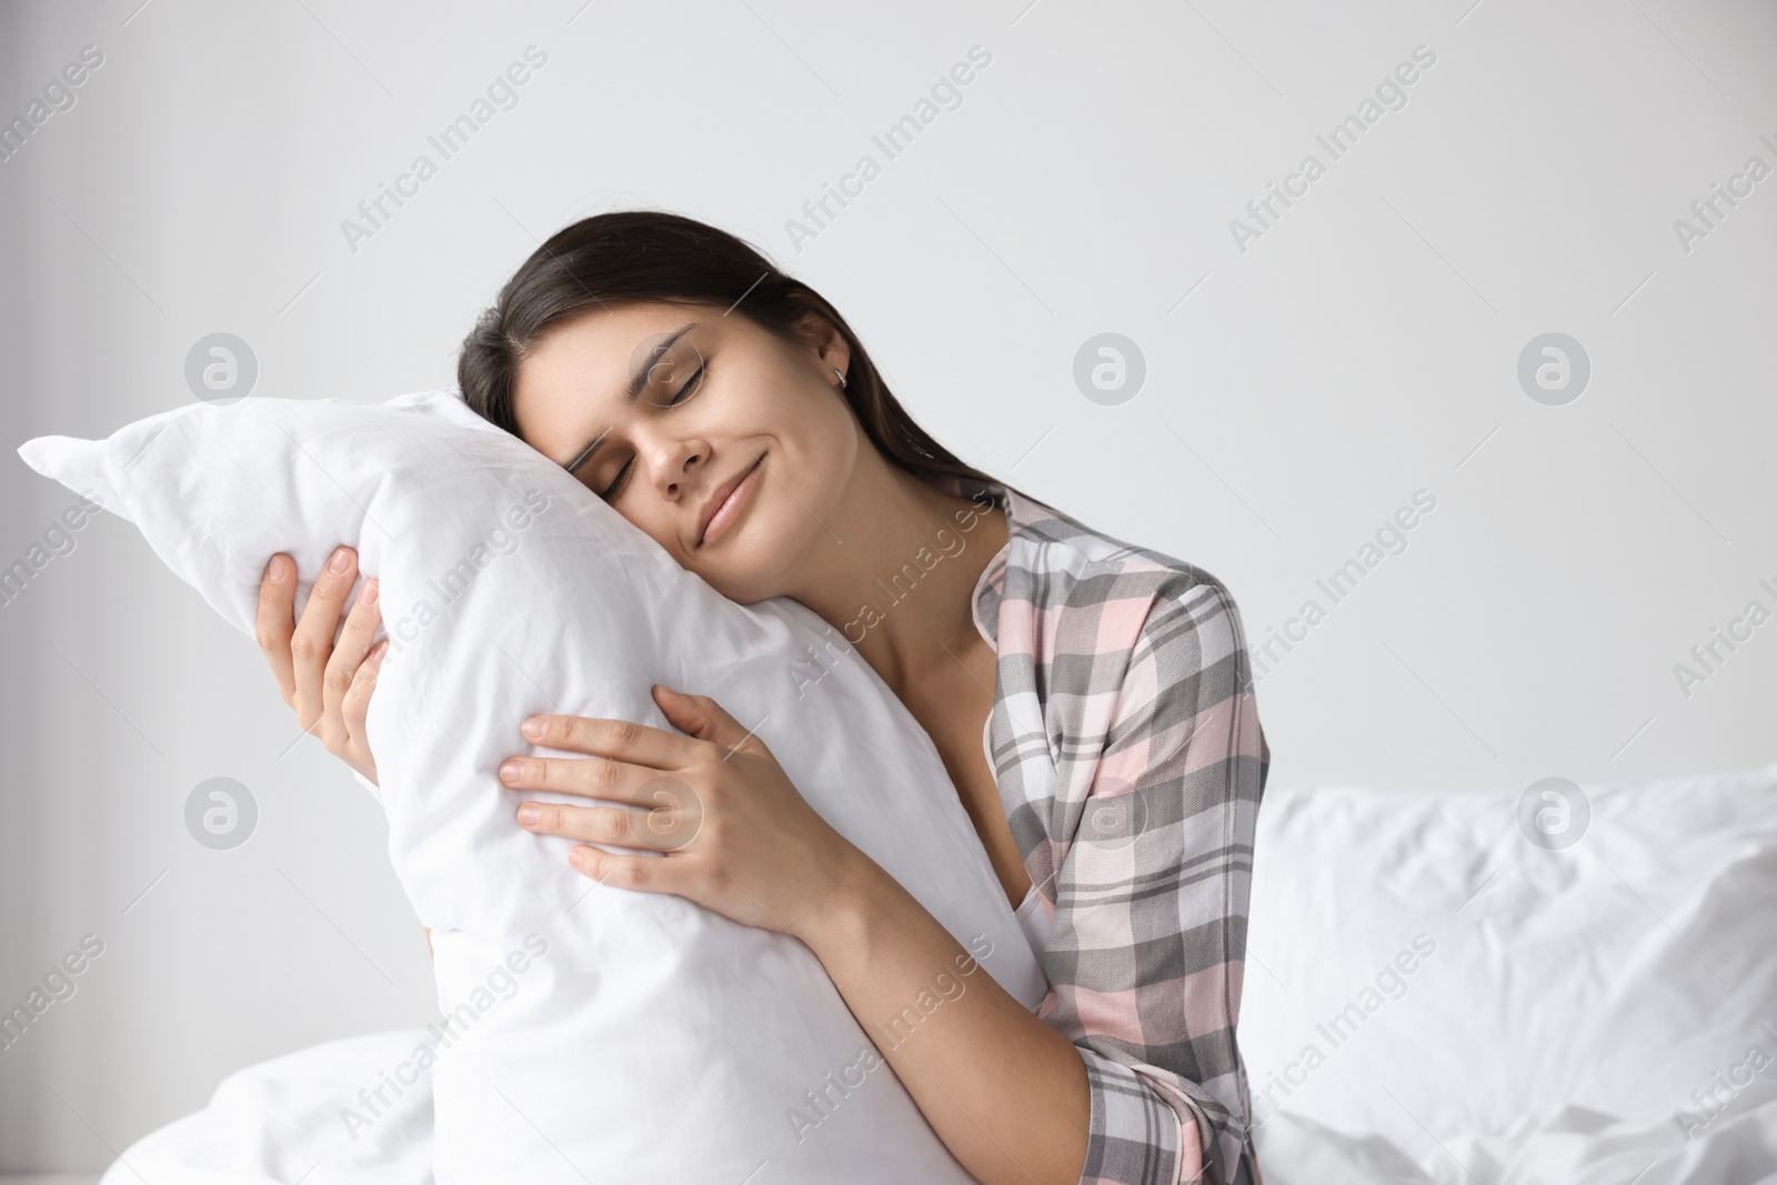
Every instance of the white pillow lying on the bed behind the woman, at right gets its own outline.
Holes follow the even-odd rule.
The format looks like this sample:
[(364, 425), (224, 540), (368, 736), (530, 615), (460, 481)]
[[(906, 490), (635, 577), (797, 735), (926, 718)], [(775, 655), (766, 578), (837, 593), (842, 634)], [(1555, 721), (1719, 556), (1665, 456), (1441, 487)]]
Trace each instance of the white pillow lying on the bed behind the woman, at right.
[(1777, 762), (1580, 794), (1546, 849), (1541, 791), (1265, 792), (1240, 1050), (1267, 1180), (1315, 1125), (1446, 1169), (1576, 1109), (1685, 1144), (1727, 1126), (1693, 1091), (1725, 1101), (1752, 1046), (1777, 1073)]

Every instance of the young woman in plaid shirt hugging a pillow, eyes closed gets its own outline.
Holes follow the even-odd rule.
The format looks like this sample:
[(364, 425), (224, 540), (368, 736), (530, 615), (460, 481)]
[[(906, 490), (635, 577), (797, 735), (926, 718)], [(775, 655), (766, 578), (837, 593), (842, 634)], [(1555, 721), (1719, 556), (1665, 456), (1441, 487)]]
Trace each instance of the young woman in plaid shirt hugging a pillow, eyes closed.
[[(931, 736), (1050, 981), (1032, 1014), (979, 977), (885, 1054), (954, 1157), (990, 1185), (1260, 1185), (1235, 1022), (1271, 752), (1228, 590), (960, 462), (826, 300), (689, 219), (560, 231), (464, 341), (458, 382), (723, 595), (819, 613)], [(377, 585), (334, 643), (355, 558), (300, 622), (293, 574), (272, 558), (261, 645), (302, 727), (373, 778)], [(574, 867), (606, 885), (800, 938), (874, 1032), (961, 945), (697, 691), (654, 689), (675, 732), (526, 721), (592, 757), (506, 762), (517, 826), (583, 840)], [(670, 844), (599, 805), (661, 771), (698, 796), (695, 828), (650, 815)]]

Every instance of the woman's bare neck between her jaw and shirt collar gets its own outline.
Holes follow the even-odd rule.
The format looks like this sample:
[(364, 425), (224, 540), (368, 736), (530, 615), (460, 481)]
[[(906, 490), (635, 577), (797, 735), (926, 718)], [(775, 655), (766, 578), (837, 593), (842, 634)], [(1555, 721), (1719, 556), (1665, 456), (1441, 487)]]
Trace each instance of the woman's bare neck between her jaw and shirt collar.
[(819, 613), (897, 695), (988, 645), (974, 627), (972, 595), (1006, 545), (1002, 512), (860, 449), (825, 526), (785, 593)]

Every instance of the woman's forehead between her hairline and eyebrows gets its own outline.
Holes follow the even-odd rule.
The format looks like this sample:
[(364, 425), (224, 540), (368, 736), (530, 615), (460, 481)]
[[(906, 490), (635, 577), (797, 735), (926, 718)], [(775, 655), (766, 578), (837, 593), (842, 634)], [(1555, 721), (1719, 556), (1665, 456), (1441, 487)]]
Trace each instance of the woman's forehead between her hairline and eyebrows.
[[(691, 329), (686, 329), (691, 325)], [(590, 309), (553, 325), (519, 362), (512, 416), (524, 441), (563, 460), (595, 421), (615, 419), (638, 370), (677, 336), (663, 359), (697, 357), (720, 336), (745, 332), (746, 318), (713, 306), (631, 304)], [(679, 330), (684, 330), (682, 334)]]

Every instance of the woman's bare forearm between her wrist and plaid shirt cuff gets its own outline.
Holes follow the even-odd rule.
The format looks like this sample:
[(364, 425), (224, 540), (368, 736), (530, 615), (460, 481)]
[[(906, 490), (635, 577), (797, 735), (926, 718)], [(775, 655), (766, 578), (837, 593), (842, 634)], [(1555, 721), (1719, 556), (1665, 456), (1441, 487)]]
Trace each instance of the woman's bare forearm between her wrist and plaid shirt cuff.
[(796, 936), (938, 1139), (983, 1185), (1080, 1180), (1089, 1114), (1079, 1050), (874, 860), (858, 851), (835, 908)]

